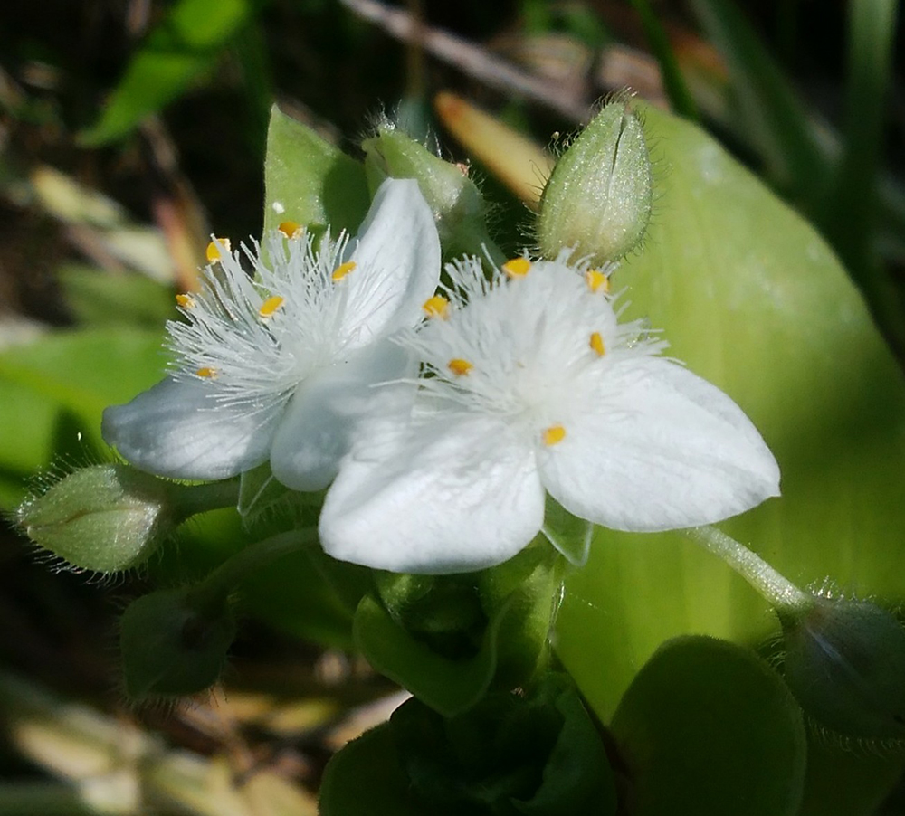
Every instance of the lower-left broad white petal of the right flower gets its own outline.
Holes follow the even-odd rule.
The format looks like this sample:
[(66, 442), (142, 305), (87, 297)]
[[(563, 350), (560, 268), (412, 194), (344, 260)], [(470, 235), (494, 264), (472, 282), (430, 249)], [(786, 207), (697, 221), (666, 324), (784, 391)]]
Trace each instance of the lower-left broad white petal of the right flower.
[(327, 494), (320, 541), (341, 561), (462, 573), (518, 553), (543, 518), (530, 446), (499, 422), (451, 415), (414, 437), (357, 445)]

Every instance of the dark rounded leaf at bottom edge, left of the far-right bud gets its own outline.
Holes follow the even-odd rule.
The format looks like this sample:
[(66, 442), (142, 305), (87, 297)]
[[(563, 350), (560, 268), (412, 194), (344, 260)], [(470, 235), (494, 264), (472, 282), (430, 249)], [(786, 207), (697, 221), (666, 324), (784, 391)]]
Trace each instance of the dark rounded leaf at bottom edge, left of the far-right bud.
[(665, 643), (634, 678), (612, 731), (633, 816), (794, 816), (805, 726), (782, 680), (710, 638)]

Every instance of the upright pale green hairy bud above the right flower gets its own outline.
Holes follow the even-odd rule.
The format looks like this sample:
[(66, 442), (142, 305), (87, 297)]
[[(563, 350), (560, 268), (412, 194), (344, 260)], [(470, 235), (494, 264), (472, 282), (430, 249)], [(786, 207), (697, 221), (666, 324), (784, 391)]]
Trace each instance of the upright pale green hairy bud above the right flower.
[(540, 199), (540, 254), (563, 249), (594, 264), (616, 261), (651, 217), (651, 161), (641, 122), (610, 102), (559, 158)]

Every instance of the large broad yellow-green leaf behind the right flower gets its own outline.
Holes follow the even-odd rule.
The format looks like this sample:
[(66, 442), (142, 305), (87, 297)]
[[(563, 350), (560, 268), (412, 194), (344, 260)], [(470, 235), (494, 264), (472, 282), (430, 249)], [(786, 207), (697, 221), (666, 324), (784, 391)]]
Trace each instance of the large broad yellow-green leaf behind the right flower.
[[(720, 525), (799, 586), (905, 598), (905, 383), (814, 229), (698, 128), (653, 109), (662, 174), (644, 250), (617, 272), (670, 354), (763, 433), (783, 497)], [(557, 650), (608, 717), (663, 640), (757, 644), (767, 603), (680, 533), (599, 530), (567, 577)]]

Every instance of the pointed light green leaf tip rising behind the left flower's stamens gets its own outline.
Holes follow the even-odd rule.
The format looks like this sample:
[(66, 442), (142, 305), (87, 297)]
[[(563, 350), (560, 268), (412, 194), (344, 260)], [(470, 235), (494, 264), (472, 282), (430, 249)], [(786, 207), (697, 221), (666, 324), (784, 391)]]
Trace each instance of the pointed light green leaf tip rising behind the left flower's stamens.
[(292, 221), (354, 232), (367, 213), (365, 170), (311, 128), (271, 109), (264, 161), (264, 230)]

